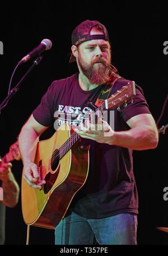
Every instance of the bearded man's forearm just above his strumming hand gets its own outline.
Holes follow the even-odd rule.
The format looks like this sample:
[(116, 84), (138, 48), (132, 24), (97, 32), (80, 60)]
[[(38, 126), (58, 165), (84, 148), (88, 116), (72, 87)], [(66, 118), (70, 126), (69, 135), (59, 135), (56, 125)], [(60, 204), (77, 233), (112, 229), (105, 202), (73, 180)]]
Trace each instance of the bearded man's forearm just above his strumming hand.
[(29, 126), (23, 126), (18, 136), (18, 146), (23, 163), (34, 162), (39, 135)]

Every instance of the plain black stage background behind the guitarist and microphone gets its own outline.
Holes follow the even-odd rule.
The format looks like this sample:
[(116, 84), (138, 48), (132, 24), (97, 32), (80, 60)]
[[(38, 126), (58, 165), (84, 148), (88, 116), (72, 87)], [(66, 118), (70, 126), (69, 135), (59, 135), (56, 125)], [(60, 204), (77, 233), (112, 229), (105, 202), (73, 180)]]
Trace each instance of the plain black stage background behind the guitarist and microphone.
[[(112, 45), (112, 62), (120, 75), (142, 87), (155, 120), (160, 116), (167, 95), (168, 40), (167, 10), (164, 3), (128, 3), (114, 1), (8, 2), (0, 4), (0, 100), (6, 97), (12, 72), (18, 61), (44, 38), (53, 42), (50, 51), (22, 84), (1, 112), (1, 156), (17, 139), (22, 125), (39, 104), (53, 80), (72, 75), (75, 63), (68, 63), (72, 30), (86, 19), (106, 26)], [(31, 66), (32, 60), (18, 68), (13, 85)], [(166, 125), (167, 104), (158, 127)], [(160, 135), (158, 147), (135, 151), (134, 173), (139, 193), (138, 244), (168, 244), (168, 233), (156, 229), (168, 227), (167, 134)], [(22, 163), (13, 161), (13, 173), (21, 185)], [(25, 244), (26, 225), (22, 219), (21, 195), (15, 208), (7, 208), (6, 244)], [(54, 244), (54, 231), (30, 227), (30, 244)]]

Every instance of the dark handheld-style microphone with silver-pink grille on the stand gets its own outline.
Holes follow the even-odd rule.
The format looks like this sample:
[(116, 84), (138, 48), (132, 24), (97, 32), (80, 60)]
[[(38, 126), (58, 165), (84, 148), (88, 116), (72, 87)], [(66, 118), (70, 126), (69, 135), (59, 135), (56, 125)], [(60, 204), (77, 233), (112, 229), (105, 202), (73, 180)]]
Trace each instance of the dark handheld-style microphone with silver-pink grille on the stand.
[(43, 39), (36, 48), (34, 48), (30, 53), (28, 53), (24, 58), (22, 58), (21, 61), (18, 62), (18, 65), (21, 65), (26, 61), (29, 61), (36, 55), (40, 56), (42, 52), (44, 52), (45, 50), (47, 51), (50, 48), (52, 48), (52, 42), (49, 39)]

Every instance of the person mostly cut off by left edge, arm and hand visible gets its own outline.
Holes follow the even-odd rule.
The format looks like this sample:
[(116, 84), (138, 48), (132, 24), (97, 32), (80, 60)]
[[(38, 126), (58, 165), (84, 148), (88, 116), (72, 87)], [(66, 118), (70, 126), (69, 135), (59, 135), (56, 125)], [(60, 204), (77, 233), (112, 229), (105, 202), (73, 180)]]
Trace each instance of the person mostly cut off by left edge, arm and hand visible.
[[(5, 239), (5, 211), (6, 207), (15, 207), (18, 202), (19, 186), (11, 171), (11, 163), (5, 163), (0, 159), (0, 244), (4, 244)], [(3, 199), (3, 200), (2, 200)]]

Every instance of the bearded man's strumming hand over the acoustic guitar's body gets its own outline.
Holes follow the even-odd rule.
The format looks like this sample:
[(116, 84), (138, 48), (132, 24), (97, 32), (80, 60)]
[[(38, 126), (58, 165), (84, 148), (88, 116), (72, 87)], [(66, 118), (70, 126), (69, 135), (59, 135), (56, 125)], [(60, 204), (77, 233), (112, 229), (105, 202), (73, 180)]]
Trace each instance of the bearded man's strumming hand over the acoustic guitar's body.
[(40, 180), (38, 166), (35, 163), (25, 163), (23, 171), (25, 181), (32, 186), (32, 188), (41, 189), (42, 185), (46, 183), (45, 180)]

